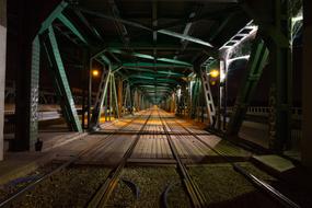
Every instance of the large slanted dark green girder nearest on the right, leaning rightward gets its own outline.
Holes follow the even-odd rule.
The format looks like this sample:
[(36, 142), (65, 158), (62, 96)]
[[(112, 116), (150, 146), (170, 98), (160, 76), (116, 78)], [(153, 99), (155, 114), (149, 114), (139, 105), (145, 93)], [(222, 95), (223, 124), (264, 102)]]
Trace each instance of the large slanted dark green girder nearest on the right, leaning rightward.
[(254, 96), (263, 68), (267, 61), (268, 49), (263, 39), (257, 38), (251, 53), (245, 76), (235, 101), (234, 109), (228, 125), (227, 135), (236, 136), (242, 126), (247, 107)]

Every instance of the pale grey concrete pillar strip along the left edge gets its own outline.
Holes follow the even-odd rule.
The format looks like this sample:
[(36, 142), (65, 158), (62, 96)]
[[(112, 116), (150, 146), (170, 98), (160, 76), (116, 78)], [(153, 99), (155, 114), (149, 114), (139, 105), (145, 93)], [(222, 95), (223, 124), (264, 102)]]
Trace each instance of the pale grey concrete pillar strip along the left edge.
[(0, 0), (0, 161), (3, 160), (3, 122), (7, 54), (7, 0)]

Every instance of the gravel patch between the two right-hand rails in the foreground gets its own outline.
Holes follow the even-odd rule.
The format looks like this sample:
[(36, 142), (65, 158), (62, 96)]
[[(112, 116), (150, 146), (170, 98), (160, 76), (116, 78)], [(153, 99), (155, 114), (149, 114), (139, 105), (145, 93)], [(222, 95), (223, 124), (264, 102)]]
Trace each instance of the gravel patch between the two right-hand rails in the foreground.
[[(250, 163), (240, 164), (247, 171), (252, 170), (259, 178), (274, 180)], [(209, 207), (281, 207), (256, 189), (229, 163), (192, 166), (189, 173), (203, 190)]]

